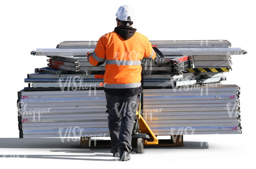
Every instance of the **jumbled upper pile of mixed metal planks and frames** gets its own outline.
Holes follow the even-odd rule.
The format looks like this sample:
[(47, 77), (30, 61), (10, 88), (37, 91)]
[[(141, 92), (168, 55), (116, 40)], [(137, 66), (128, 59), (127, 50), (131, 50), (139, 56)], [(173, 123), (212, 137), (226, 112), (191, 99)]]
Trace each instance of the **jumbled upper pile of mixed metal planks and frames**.
[[(50, 57), (47, 60), (50, 67), (37, 68), (35, 73), (65, 74), (66, 77), (76, 74), (79, 77), (76, 82), (70, 82), (68, 78), (59, 81), (58, 77), (54, 79), (53, 76), (39, 78), (41, 75), (33, 75), (34, 78), (29, 76), (25, 82), (30, 83), (30, 87), (61, 87), (63, 83), (69, 87), (102, 85), (105, 63), (95, 67), (89, 64), (86, 57), (87, 52), (94, 51), (96, 43), (96, 41), (64, 41), (57, 46), (57, 49), (37, 49), (32, 52), (32, 55)], [(165, 55), (165, 61), (161, 67), (154, 64), (153, 60), (141, 61), (144, 87), (147, 88), (220, 84), (221, 81), (226, 80), (223, 72), (231, 69), (230, 55), (247, 53), (241, 48), (230, 48), (231, 44), (227, 40), (151, 41), (151, 43)], [(191, 56), (193, 66), (186, 70), (173, 71), (171, 61), (182, 56)]]

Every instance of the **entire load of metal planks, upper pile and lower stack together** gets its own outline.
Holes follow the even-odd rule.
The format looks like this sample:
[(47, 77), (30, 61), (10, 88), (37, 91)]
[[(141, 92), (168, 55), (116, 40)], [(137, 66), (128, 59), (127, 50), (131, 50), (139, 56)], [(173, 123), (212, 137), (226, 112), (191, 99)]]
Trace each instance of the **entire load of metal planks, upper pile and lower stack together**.
[[(164, 55), (161, 67), (143, 66), (143, 118), (155, 135), (241, 133), (237, 85), (221, 85), (231, 69), (227, 40), (151, 41)], [(87, 60), (96, 41), (64, 41), (57, 49), (37, 49), (48, 67), (28, 74), (18, 92), (20, 138), (108, 136), (103, 79), (105, 64)], [(172, 71), (176, 58), (190, 59), (191, 68)], [(176, 60), (177, 61), (177, 60)], [(175, 62), (176, 62), (175, 61)]]

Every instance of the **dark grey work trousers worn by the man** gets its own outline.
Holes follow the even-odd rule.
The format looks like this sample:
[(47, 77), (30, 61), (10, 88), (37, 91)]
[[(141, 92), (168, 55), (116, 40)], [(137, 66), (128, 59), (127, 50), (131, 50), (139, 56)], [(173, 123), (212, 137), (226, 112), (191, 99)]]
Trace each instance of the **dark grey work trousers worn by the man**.
[(111, 153), (118, 152), (119, 149), (130, 152), (137, 95), (129, 97), (106, 94), (106, 99)]

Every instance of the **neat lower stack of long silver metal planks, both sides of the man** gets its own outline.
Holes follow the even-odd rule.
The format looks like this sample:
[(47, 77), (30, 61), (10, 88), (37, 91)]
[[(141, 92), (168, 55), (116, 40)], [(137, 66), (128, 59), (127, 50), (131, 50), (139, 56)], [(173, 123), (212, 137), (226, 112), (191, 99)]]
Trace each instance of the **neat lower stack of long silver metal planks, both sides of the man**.
[[(143, 117), (156, 135), (241, 133), (237, 85), (144, 93)], [(103, 90), (18, 94), (20, 138), (109, 136)]]

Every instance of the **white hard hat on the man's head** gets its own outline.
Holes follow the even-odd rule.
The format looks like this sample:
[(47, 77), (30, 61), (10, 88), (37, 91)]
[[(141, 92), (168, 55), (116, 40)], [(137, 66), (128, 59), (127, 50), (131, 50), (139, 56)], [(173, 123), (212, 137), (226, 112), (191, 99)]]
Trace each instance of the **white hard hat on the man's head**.
[(115, 15), (119, 20), (134, 22), (134, 10), (128, 5), (119, 7), (117, 14)]

